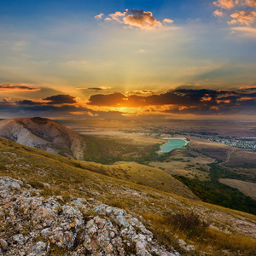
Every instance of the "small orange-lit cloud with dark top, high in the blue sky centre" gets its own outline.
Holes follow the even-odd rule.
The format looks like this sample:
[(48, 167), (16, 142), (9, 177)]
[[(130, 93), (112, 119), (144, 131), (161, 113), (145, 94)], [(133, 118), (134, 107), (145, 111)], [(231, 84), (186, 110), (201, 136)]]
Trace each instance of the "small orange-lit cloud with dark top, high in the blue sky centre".
[[(126, 9), (124, 13), (115, 12), (114, 14), (108, 15), (105, 20), (114, 20), (128, 27), (137, 26), (141, 29), (154, 29), (163, 26), (159, 20), (154, 18), (151, 12), (146, 12), (143, 9)], [(163, 21), (166, 23), (173, 22), (171, 19), (165, 19)]]

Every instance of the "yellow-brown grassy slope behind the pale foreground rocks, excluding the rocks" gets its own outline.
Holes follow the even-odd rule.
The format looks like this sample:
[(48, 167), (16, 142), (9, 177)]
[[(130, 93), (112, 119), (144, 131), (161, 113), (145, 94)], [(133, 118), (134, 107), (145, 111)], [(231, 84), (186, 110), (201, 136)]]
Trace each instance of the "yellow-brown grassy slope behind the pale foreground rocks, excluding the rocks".
[[(128, 168), (131, 163), (102, 166), (70, 160), (0, 139), (0, 175), (25, 179), (33, 187), (42, 189), (44, 196), (62, 195), (67, 201), (70, 195), (94, 197), (114, 207), (143, 215), (144, 224), (166, 247), (179, 249), (176, 236), (194, 244), (195, 252), (191, 255), (200, 255), (200, 251), (222, 255), (224, 250), (231, 255), (236, 255), (238, 251), (241, 255), (253, 255), (256, 250), (255, 216), (161, 190), (165, 188), (150, 187), (149, 180), (143, 184), (133, 181), (140, 172), (145, 180), (153, 180), (150, 174), (156, 170), (154, 168), (143, 166), (144, 169), (140, 169), (142, 166), (134, 164), (129, 167), (133, 170), (130, 174), (122, 171), (119, 178), (108, 176), (113, 171), (118, 172), (118, 169), (125, 170), (123, 165)], [(126, 172), (129, 173), (128, 170)], [(126, 175), (131, 176), (131, 181), (121, 179)], [(161, 177), (155, 178), (155, 182), (160, 183)], [(54, 189), (44, 186), (44, 183), (49, 183)], [(190, 216), (188, 212), (195, 212), (201, 220), (211, 225), (203, 230), (194, 229), (197, 221), (190, 223), (190, 230), (182, 225), (177, 226), (173, 219), (181, 212), (181, 216), (185, 217)]]

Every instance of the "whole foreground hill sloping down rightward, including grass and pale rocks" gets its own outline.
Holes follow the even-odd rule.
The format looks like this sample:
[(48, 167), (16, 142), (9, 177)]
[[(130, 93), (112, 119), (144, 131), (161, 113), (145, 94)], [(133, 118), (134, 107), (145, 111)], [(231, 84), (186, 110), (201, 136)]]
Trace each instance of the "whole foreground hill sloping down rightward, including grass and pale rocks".
[[(49, 255), (105, 255), (103, 248), (106, 247), (107, 241), (109, 244), (110, 235), (107, 236), (107, 226), (102, 224), (107, 221), (117, 229), (117, 233), (113, 232), (113, 239), (119, 237), (122, 247), (129, 250), (130, 253), (125, 255), (168, 255), (165, 254), (166, 251), (160, 253), (160, 248), (164, 247), (169, 255), (175, 253), (173, 247), (182, 255), (237, 255), (238, 251), (240, 255), (253, 255), (255, 252), (256, 218), (251, 214), (184, 198), (161, 188), (136, 183), (132, 179), (125, 181), (109, 177), (108, 167), (109, 172), (112, 170), (118, 175), (122, 163), (113, 165), (113, 170), (112, 166), (71, 160), (6, 139), (0, 139), (0, 151), (0, 176), (3, 177), (1, 180), (23, 183), (20, 188), (10, 185), (13, 187), (10, 192), (14, 196), (9, 195), (10, 192), (6, 188), (1, 190), (1, 245), (3, 249), (7, 244), (9, 252), (16, 247), (27, 249), (27, 253), (38, 253), (37, 250), (41, 247), (47, 247)], [(104, 171), (107, 173), (103, 174)], [(132, 172), (138, 171), (139, 169)], [(4, 187), (3, 182), (0, 183)], [(24, 207), (20, 207), (20, 200), (25, 201), (22, 196), (29, 202)], [(100, 207), (101, 205), (107, 206)], [(37, 206), (39, 223), (37, 219), (31, 223), (35, 214), (33, 211), (36, 211), (33, 207)], [(97, 211), (96, 207), (100, 207), (100, 210)], [(125, 210), (128, 216), (124, 213), (122, 217), (117, 218), (111, 213), (122, 211), (121, 209)], [(39, 218), (40, 211), (48, 216), (42, 223), (42, 218)], [(60, 222), (55, 222), (58, 216)], [(135, 230), (133, 235), (137, 236), (132, 239), (130, 226), (124, 229), (119, 223), (119, 220), (129, 223), (131, 218), (137, 218), (146, 230), (152, 232), (148, 240), (143, 234), (147, 231), (143, 230), (141, 224), (137, 223), (139, 227), (132, 226)], [(62, 223), (69, 224), (70, 229), (65, 230), (65, 226), (61, 226)], [(90, 224), (93, 229), (89, 234), (87, 231)], [(95, 245), (96, 252), (89, 247), (90, 242), (86, 243), (85, 237), (86, 241)], [(153, 244), (150, 239), (153, 239)], [(103, 241), (106, 241), (106, 244)], [(139, 253), (140, 245), (145, 245), (143, 241), (148, 243), (146, 254)], [(113, 243), (111, 244), (113, 246)], [(89, 251), (83, 254), (79, 249), (85, 250), (84, 247)], [(32, 248), (34, 251), (29, 251)], [(45, 250), (42, 253), (46, 253)]]

